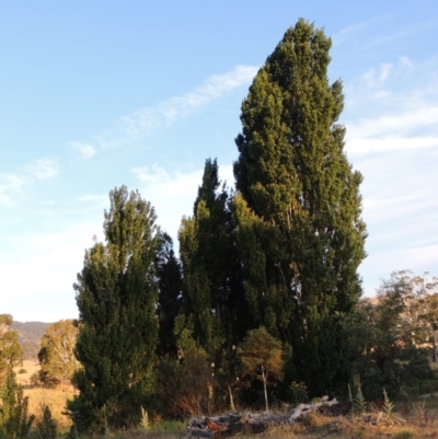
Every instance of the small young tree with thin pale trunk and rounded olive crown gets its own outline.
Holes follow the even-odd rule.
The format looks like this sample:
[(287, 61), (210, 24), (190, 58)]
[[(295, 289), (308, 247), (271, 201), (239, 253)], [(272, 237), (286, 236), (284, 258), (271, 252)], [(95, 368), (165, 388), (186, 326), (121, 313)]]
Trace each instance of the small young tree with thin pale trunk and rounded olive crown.
[(283, 378), (281, 342), (274, 338), (265, 327), (252, 330), (238, 347), (243, 374), (250, 374), (263, 382), (265, 407), (268, 407), (267, 382)]

